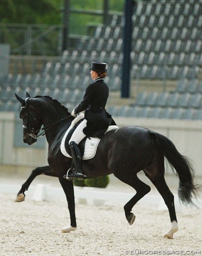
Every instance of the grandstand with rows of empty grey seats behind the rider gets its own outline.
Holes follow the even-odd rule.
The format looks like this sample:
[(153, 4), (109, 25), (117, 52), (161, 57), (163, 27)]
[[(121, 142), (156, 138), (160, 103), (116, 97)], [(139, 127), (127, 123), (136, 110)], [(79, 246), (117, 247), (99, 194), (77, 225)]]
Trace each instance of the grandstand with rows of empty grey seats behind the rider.
[(105, 61), (112, 115), (145, 118), (202, 119), (202, 0), (138, 2), (133, 12), (131, 97), (119, 97), (124, 19), (91, 28), (75, 49), (44, 63), (31, 74), (10, 73), (0, 80), (0, 109), (16, 111), (14, 92), (51, 95), (70, 110), (91, 82), (91, 61)]

